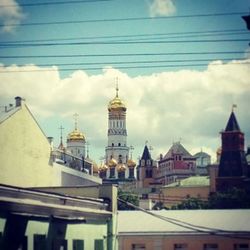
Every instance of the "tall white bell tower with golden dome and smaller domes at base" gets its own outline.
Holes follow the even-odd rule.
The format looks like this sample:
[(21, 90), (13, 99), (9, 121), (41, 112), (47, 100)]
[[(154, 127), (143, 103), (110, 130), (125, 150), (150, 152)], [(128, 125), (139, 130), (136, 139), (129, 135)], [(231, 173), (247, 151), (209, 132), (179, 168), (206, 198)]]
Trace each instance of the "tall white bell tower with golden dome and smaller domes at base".
[(133, 181), (136, 162), (129, 157), (126, 129), (126, 105), (116, 95), (108, 104), (108, 143), (105, 148), (105, 159), (99, 168), (100, 177), (106, 182)]

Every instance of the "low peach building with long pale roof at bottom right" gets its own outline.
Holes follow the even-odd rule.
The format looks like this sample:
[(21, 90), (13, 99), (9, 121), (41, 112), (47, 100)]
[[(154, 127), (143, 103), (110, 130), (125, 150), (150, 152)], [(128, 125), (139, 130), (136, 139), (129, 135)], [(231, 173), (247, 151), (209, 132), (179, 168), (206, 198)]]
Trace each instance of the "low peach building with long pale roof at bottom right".
[(250, 210), (119, 211), (119, 250), (248, 250)]

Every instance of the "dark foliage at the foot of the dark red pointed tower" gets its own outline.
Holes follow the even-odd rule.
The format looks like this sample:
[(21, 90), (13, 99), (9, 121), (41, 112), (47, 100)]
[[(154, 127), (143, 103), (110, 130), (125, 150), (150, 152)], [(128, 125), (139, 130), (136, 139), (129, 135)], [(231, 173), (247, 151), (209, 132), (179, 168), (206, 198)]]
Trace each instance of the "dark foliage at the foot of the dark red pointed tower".
[(250, 195), (245, 190), (232, 188), (212, 194), (208, 202), (212, 209), (250, 208)]

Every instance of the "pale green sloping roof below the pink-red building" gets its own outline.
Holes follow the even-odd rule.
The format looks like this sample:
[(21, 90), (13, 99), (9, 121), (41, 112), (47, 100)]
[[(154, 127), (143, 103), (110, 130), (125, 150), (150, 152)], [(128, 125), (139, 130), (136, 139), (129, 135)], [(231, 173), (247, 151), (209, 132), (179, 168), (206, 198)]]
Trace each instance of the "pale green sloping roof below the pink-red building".
[(164, 187), (198, 187), (198, 186), (209, 186), (209, 176), (192, 176), (179, 182), (174, 182)]

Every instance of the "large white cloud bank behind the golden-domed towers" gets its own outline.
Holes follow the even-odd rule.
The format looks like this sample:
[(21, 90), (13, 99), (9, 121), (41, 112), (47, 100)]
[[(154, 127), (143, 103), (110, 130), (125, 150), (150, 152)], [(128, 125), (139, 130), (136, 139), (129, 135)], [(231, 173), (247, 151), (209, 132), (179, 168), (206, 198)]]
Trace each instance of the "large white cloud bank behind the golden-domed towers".
[(104, 154), (107, 143), (107, 105), (115, 96), (116, 77), (119, 96), (128, 108), (128, 145), (134, 145), (135, 158), (142, 153), (146, 140), (153, 146), (156, 158), (180, 138), (192, 153), (203, 148), (215, 154), (220, 146), (219, 132), (226, 126), (233, 103), (238, 105), (236, 116), (250, 142), (250, 64), (214, 62), (204, 71), (137, 77), (112, 68), (96, 75), (75, 71), (64, 79), (56, 67), (48, 72), (1, 73), (14, 69), (39, 67), (0, 67), (0, 106), (17, 95), (24, 97), (45, 133), (57, 139), (61, 123), (65, 135), (73, 129), (72, 115), (77, 112), (79, 127), (96, 159)]

